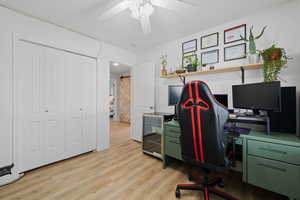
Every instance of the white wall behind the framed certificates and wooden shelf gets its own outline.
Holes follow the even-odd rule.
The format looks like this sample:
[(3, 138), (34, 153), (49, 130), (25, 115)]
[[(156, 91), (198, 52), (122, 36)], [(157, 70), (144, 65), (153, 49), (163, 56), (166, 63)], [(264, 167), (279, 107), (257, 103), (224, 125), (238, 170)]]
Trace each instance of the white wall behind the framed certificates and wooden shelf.
[[(242, 8), (241, 8), (242, 9)], [(213, 27), (209, 30), (201, 31), (193, 35), (189, 35), (185, 38), (178, 39), (176, 41), (169, 42), (161, 45), (150, 51), (138, 54), (138, 63), (144, 63), (146, 61), (156, 62), (156, 110), (164, 112), (173, 112), (172, 107), (167, 106), (168, 92), (167, 86), (169, 84), (179, 84), (178, 79), (161, 79), (159, 78), (160, 63), (159, 57), (162, 54), (168, 55), (169, 67), (176, 68), (181, 65), (181, 45), (182, 42), (197, 38), (198, 47), (200, 46), (200, 37), (219, 32), (219, 49), (220, 49), (220, 63), (215, 64), (216, 68), (225, 66), (235, 66), (247, 63), (247, 59), (237, 60), (232, 62), (224, 62), (223, 60), (223, 31), (240, 24), (247, 24), (249, 29), (251, 25), (254, 25), (255, 33), (257, 34), (263, 26), (267, 25), (268, 28), (264, 36), (257, 41), (258, 49), (263, 49), (271, 46), (276, 42), (280, 47), (287, 49), (287, 52), (294, 59), (289, 61), (288, 68), (282, 71), (281, 77), (282, 85), (284, 86), (297, 86), (298, 98), (300, 91), (300, 2), (293, 1), (291, 3), (283, 4), (277, 7), (264, 10), (259, 13), (255, 13), (250, 16), (245, 16), (242, 19), (228, 22), (226, 24)], [(205, 20), (205, 19), (203, 19)], [(184, 28), (184, 26), (182, 26)], [(238, 44), (233, 43), (233, 44)], [(230, 46), (230, 45), (226, 45)], [(212, 48), (211, 50), (213, 50)], [(201, 56), (201, 51), (198, 50), (198, 58)], [(187, 78), (187, 81), (200, 79), (206, 81), (212, 88), (214, 93), (227, 93), (229, 94), (229, 104), (232, 107), (231, 101), (231, 86), (233, 84), (241, 83), (240, 72), (232, 72), (226, 74), (213, 74), (205, 76), (195, 76)], [(246, 82), (258, 82), (263, 80), (263, 74), (261, 70), (246, 71)], [(299, 100), (298, 100), (299, 102)], [(298, 109), (299, 110), (299, 109)]]

